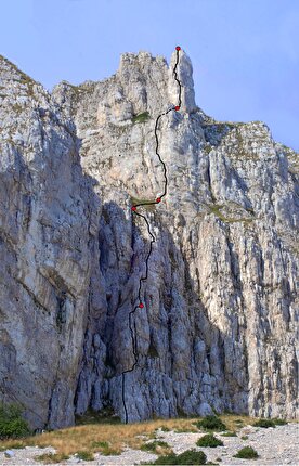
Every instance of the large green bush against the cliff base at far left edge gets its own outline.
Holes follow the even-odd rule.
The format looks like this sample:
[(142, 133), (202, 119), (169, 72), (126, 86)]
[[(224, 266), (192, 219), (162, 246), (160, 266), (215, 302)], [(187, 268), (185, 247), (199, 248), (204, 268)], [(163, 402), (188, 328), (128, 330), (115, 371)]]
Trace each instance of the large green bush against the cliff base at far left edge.
[(0, 439), (14, 439), (25, 437), (30, 433), (26, 420), (22, 417), (18, 406), (11, 404), (0, 405)]

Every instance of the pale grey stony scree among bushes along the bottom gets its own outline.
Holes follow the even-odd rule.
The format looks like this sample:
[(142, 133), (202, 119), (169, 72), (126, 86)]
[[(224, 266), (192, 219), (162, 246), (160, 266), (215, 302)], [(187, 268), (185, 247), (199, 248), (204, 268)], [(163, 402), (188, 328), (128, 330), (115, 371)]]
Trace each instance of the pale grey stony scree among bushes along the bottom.
[[(177, 433), (174, 431), (157, 432), (157, 438), (166, 441), (179, 454), (186, 450), (195, 449), (202, 450), (207, 455), (207, 462), (225, 465), (298, 465), (298, 440), (299, 428), (298, 424), (288, 424), (286, 426), (277, 426), (274, 428), (256, 428), (246, 426), (237, 432), (237, 437), (222, 437), (217, 433), (216, 437), (220, 438), (224, 445), (217, 448), (197, 448), (196, 441), (204, 433), (183, 432)], [(247, 436), (246, 440), (242, 437)], [(245, 445), (252, 446), (259, 454), (258, 459), (238, 459), (233, 456)], [(36, 457), (44, 454), (55, 452), (52, 448), (40, 449), (35, 446), (27, 446), (23, 450), (10, 450), (0, 453), (1, 465), (35, 465)], [(11, 455), (8, 457), (8, 455)], [(134, 465), (141, 462), (151, 462), (157, 458), (156, 454), (146, 453), (140, 450), (127, 449), (118, 456), (103, 456), (95, 454), (94, 461), (84, 462), (76, 456), (58, 463), (60, 465)]]

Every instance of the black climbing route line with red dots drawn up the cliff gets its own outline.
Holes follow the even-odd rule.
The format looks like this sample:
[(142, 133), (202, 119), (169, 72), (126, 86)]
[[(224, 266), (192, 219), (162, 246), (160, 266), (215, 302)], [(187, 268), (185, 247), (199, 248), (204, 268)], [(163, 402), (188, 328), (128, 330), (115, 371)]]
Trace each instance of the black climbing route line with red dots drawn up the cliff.
[[(136, 211), (138, 207), (141, 206), (153, 206), (156, 204), (159, 204), (162, 199), (162, 197), (165, 197), (167, 195), (167, 186), (168, 186), (168, 179), (167, 179), (167, 169), (166, 169), (166, 165), (162, 161), (160, 154), (159, 154), (159, 139), (158, 139), (158, 130), (159, 130), (159, 121), (160, 118), (162, 116), (168, 115), (170, 112), (178, 112), (181, 108), (181, 104), (182, 104), (182, 100), (181, 100), (181, 95), (182, 95), (182, 86), (181, 82), (178, 78), (178, 73), (177, 73), (177, 68), (179, 65), (179, 61), (180, 61), (180, 51), (181, 48), (180, 46), (176, 47), (176, 52), (177, 52), (177, 61), (173, 67), (173, 78), (178, 83), (178, 88), (179, 88), (179, 99), (178, 99), (178, 103), (177, 105), (171, 106), (170, 108), (168, 108), (166, 112), (161, 113), (160, 115), (157, 116), (156, 118), (156, 122), (155, 122), (155, 129), (154, 129), (154, 133), (155, 133), (155, 140), (156, 140), (156, 155), (159, 159), (159, 163), (161, 164), (162, 167), (162, 171), (164, 171), (164, 193), (156, 198), (156, 200), (145, 200), (143, 203), (136, 204), (135, 206), (131, 207), (131, 210), (133, 212), (135, 212), (135, 218), (136, 217), (141, 217), (147, 226), (147, 232), (148, 235), (151, 236), (151, 243), (150, 243), (150, 251), (147, 253), (146, 259), (145, 259), (145, 275), (141, 275), (140, 280), (139, 280), (139, 292), (138, 292), (138, 305), (133, 308), (133, 310), (131, 310), (129, 312), (129, 328), (131, 332), (131, 338), (132, 338), (132, 351), (134, 354), (134, 363), (131, 367), (127, 368), (126, 371), (122, 372), (121, 376), (122, 376), (122, 404), (123, 404), (123, 411), (125, 411), (125, 422), (126, 424), (128, 424), (129, 420), (129, 416), (128, 416), (128, 409), (127, 409), (127, 403), (126, 403), (126, 387), (125, 387), (125, 381), (126, 381), (126, 374), (128, 374), (129, 372), (133, 372), (136, 364), (138, 364), (138, 360), (139, 360), (139, 355), (138, 355), (138, 341), (136, 341), (136, 322), (133, 319), (135, 315), (135, 311), (138, 309), (143, 309), (144, 308), (144, 303), (142, 302), (142, 300), (144, 301), (144, 293), (142, 293), (142, 285), (144, 282), (146, 282), (147, 277), (148, 277), (148, 260), (153, 250), (153, 244), (155, 243), (156, 238), (153, 235), (152, 231), (151, 231), (151, 225), (150, 222), (147, 220), (147, 218), (143, 215)], [(180, 117), (179, 117), (180, 118)], [(143, 296), (143, 299), (142, 299)], [(147, 309), (148, 311), (148, 309)]]

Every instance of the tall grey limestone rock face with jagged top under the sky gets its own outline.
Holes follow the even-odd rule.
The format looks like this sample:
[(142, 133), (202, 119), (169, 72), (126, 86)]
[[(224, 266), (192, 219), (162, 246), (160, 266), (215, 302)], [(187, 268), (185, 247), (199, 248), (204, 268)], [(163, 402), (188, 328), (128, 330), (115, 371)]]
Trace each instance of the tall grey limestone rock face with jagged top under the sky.
[[(296, 416), (298, 154), (220, 124), (192, 64), (125, 54), (50, 95), (0, 60), (0, 398), (32, 427), (89, 407), (129, 422), (230, 410)], [(134, 350), (138, 365), (134, 363)], [(125, 381), (125, 385), (123, 385)]]

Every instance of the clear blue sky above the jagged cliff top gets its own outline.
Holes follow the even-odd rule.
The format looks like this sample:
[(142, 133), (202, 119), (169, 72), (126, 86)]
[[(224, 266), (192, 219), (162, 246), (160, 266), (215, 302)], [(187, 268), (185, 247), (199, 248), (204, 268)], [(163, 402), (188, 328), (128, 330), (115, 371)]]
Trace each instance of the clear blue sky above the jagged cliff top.
[(299, 150), (298, 0), (4, 0), (0, 14), (0, 53), (48, 89), (108, 77), (122, 52), (169, 60), (180, 44), (208, 115), (263, 120)]

